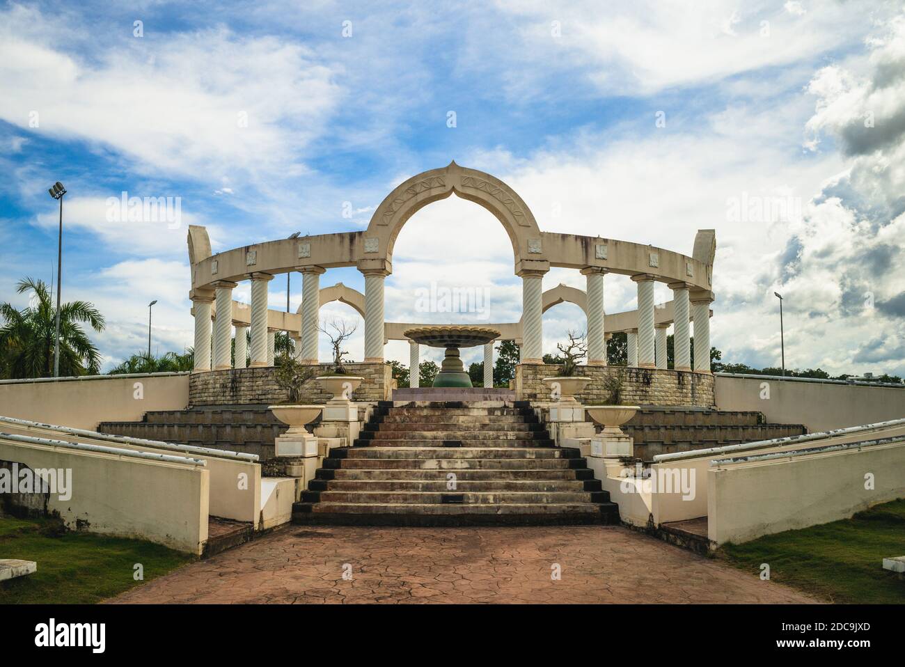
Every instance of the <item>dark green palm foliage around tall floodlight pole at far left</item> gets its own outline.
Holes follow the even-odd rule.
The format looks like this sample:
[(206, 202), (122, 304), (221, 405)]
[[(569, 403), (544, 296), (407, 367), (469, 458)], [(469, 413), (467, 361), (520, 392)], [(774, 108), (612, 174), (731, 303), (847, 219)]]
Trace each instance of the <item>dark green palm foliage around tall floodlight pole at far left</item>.
[[(31, 278), (16, 283), (22, 294), (33, 291), (31, 305), (16, 310), (0, 303), (0, 372), (5, 377), (50, 377), (53, 375), (53, 338), (56, 309), (44, 281)], [(100, 373), (100, 352), (81, 329), (104, 329), (104, 316), (88, 301), (70, 301), (60, 307), (60, 375), (81, 376)]]

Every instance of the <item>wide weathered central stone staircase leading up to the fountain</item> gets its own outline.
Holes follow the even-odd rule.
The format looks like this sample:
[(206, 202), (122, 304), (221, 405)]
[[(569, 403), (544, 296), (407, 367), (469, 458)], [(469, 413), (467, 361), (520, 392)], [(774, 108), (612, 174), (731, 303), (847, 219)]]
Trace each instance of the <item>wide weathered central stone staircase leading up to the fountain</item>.
[(310, 524), (586, 524), (619, 520), (576, 449), (527, 403), (382, 402), (332, 449), (292, 520)]

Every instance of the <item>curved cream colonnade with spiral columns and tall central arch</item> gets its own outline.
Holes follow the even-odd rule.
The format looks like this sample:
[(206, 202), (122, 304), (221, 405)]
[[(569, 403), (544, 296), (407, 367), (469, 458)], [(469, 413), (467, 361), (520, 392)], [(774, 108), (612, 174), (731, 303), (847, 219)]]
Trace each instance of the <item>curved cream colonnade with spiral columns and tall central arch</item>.
[[(514, 269), (522, 279), (522, 317), (519, 322), (492, 325), (500, 339), (517, 340), (523, 364), (541, 363), (542, 315), (555, 303), (575, 302), (586, 313), (588, 364), (606, 364), (605, 332), (627, 331), (629, 363), (636, 367), (665, 367), (666, 328), (675, 327), (676, 369), (710, 372), (710, 302), (713, 300), (712, 264), (716, 251), (713, 230), (699, 230), (691, 256), (653, 245), (583, 236), (541, 232), (528, 205), (510, 186), (490, 174), (460, 167), (455, 162), (413, 176), (386, 196), (364, 232), (340, 232), (281, 239), (211, 253), (204, 227), (191, 225), (188, 251), (192, 269), (190, 297), (194, 302), (195, 370), (223, 368), (229, 363), (229, 326), (216, 327), (211, 355), (205, 349), (211, 340), (211, 317), (215, 304), (233, 303), (233, 326), (252, 331), (254, 367), (273, 363), (276, 331), (289, 331), (296, 338), (296, 354), (302, 363), (318, 362), (318, 311), (321, 302), (348, 303), (365, 318), (365, 361), (382, 362), (387, 339), (405, 338), (405, 328), (417, 323), (384, 321), (384, 281), (393, 272), (395, 239), (405, 222), (432, 202), (457, 195), (483, 206), (503, 225), (512, 243)], [(365, 276), (365, 294), (338, 284), (319, 289), (319, 276), (335, 267), (355, 266)], [(542, 292), (541, 279), (550, 267), (579, 270), (586, 276), (587, 290), (560, 285)], [(274, 275), (300, 272), (303, 299), (298, 313), (265, 312), (267, 283)], [(637, 283), (638, 310), (605, 315), (604, 276), (615, 273)], [(237, 306), (232, 290), (238, 281), (252, 282), (252, 304)], [(653, 283), (665, 282), (675, 298), (665, 304), (653, 302)], [(549, 292), (555, 292), (549, 295)], [(237, 309), (239, 311), (237, 312)], [(250, 312), (242, 311), (248, 309)], [(255, 315), (257, 313), (257, 315)], [(246, 315), (248, 316), (246, 318)], [(691, 368), (691, 327), (694, 324), (695, 367)], [(401, 335), (400, 335), (401, 334)], [(414, 343), (413, 343), (414, 344)], [(485, 358), (488, 349), (485, 346)], [(236, 355), (244, 365), (244, 356)], [(416, 346), (412, 359), (416, 360)], [(492, 346), (490, 346), (492, 358)], [(241, 360), (240, 360), (241, 359)], [(243, 366), (240, 366), (243, 367)]]

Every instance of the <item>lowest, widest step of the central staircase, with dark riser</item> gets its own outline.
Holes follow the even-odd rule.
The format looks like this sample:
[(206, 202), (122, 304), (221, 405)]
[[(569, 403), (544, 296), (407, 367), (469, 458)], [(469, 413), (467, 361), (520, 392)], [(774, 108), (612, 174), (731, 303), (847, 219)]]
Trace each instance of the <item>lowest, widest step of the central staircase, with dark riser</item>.
[(616, 523), (619, 509), (607, 503), (505, 505), (306, 503), (292, 506), (292, 521), (300, 524), (468, 526)]

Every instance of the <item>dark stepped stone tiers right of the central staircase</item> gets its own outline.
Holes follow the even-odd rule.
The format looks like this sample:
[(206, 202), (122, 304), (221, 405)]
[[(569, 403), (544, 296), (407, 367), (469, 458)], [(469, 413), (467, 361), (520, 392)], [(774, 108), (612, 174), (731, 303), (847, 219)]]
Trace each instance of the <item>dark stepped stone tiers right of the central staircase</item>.
[(802, 424), (766, 424), (759, 412), (645, 407), (623, 427), (634, 438), (634, 455), (688, 452), (807, 433)]

